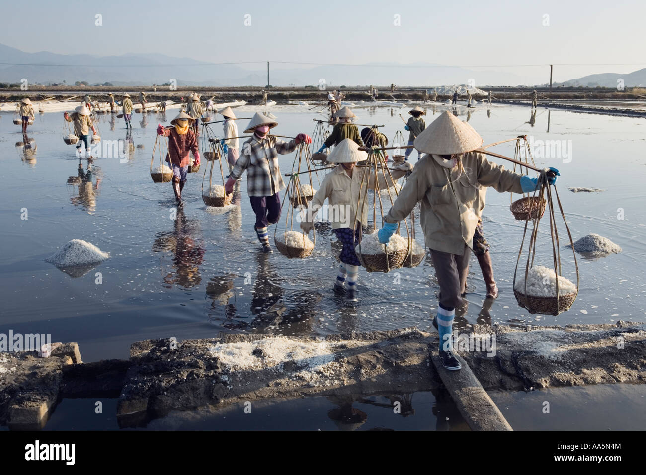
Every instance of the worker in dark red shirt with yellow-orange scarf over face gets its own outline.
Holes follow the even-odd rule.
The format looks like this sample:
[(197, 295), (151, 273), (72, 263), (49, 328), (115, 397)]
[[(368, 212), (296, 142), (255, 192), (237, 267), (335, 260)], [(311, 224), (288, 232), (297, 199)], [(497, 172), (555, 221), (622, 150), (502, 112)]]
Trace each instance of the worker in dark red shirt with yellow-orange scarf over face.
[(168, 137), (166, 162), (172, 169), (172, 191), (179, 204), (182, 204), (182, 190), (187, 182), (186, 174), (189, 171), (189, 165), (191, 165), (191, 152), (193, 152), (195, 164), (200, 164), (198, 140), (195, 132), (191, 130), (193, 121), (189, 114), (182, 111), (171, 120), (171, 127), (157, 125), (157, 134)]

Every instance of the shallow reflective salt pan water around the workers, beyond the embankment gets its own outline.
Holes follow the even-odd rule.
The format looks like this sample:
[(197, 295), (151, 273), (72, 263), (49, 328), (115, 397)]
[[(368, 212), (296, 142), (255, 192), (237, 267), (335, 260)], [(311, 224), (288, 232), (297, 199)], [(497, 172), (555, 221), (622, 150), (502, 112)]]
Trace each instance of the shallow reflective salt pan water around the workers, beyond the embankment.
[[(311, 134), (311, 119), (322, 116), (306, 109), (272, 107), (280, 123), (274, 132)], [(444, 109), (437, 109), (435, 117)], [(406, 110), (373, 108), (355, 113), (359, 123), (385, 124), (382, 131), (392, 138), (403, 126), (397, 114)], [(464, 107), (457, 112), (466, 119)], [(641, 246), (646, 231), (642, 185), (646, 121), (544, 109), (532, 120), (529, 109), (523, 107), (492, 107), (489, 112), (479, 105), (469, 117), (485, 143), (519, 134), (531, 135), (534, 141), (565, 140), (571, 160), (568, 156), (565, 163), (563, 157), (536, 160), (541, 167), (561, 171), (559, 196), (572, 237), (599, 233), (623, 252), (599, 260), (578, 256), (581, 285), (573, 308), (557, 317), (530, 315), (519, 308), (512, 291), (523, 222), (514, 220), (508, 209), (510, 195), (490, 190), (483, 222), (501, 295), (483, 305), (485, 286), (477, 260), (472, 259), (468, 305), (457, 310), (457, 323), (464, 328), (476, 322), (646, 321), (646, 252)], [(74, 146), (62, 140), (61, 115), (37, 116), (28, 132), (34, 139), (32, 149), (25, 151), (15, 146), (24, 140), (11, 121), (12, 114), (0, 113), (0, 160), (6, 177), (0, 187), (5, 249), (0, 256), (4, 297), (0, 328), (52, 333), (53, 341), (78, 341), (85, 361), (127, 357), (130, 343), (141, 339), (211, 337), (220, 331), (322, 336), (409, 325), (432, 328), (439, 289), (430, 258), (418, 268), (389, 274), (361, 270), (360, 303), (348, 306), (331, 292), (340, 246), (329, 225), (317, 226), (316, 247), (307, 259), (287, 259), (277, 251), (259, 253), (246, 176), (234, 194), (235, 206), (211, 213), (201, 198), (202, 173), (208, 165), (203, 162), (202, 173), (189, 174), (182, 193), (183, 212), (176, 212), (171, 184), (154, 184), (149, 176), (156, 123), (168, 123), (172, 117), (148, 114), (142, 121), (141, 114), (135, 114), (137, 128), (130, 136), (122, 120), (112, 125), (110, 114), (99, 116), (103, 142), (123, 139), (132, 147), (127, 147), (121, 160), (95, 158), (88, 167), (83, 159), (79, 171)], [(433, 111), (428, 109), (426, 123), (432, 120)], [(213, 130), (222, 133), (220, 127)], [(514, 143), (492, 150), (513, 155)], [(281, 156), (283, 173), (291, 170), (293, 159), (294, 153)], [(412, 160), (417, 160), (416, 153)], [(70, 176), (79, 175), (85, 184), (67, 184)], [(316, 187), (316, 178), (313, 183)], [(607, 191), (584, 196), (570, 193), (568, 186)], [(21, 219), (23, 209), (26, 220)], [(284, 229), (285, 216), (286, 208), (278, 232)], [(417, 241), (423, 244), (419, 216), (415, 222)], [(541, 229), (538, 255), (544, 260), (536, 264), (549, 266), (547, 220)], [(269, 228), (272, 244), (274, 230)], [(562, 226), (559, 231), (564, 246), (567, 233)], [(71, 239), (92, 242), (110, 253), (110, 259), (77, 278), (45, 262)], [(561, 259), (565, 277), (576, 282), (572, 251), (561, 247)]]

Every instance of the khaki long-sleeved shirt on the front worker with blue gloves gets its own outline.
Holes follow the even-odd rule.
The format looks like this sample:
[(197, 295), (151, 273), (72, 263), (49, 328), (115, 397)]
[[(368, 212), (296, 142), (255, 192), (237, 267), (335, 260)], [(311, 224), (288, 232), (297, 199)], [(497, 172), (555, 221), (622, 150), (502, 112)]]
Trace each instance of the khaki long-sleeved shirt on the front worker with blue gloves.
[(465, 153), (461, 160), (466, 173), (459, 174), (458, 167), (444, 168), (431, 155), (424, 155), (388, 211), (386, 222), (406, 218), (421, 202), (426, 246), (455, 255), (463, 255), (465, 243), (473, 248), (475, 226), (484, 207), (479, 185), (494, 187), (500, 193), (523, 193), (522, 175), (488, 162), (478, 152)]

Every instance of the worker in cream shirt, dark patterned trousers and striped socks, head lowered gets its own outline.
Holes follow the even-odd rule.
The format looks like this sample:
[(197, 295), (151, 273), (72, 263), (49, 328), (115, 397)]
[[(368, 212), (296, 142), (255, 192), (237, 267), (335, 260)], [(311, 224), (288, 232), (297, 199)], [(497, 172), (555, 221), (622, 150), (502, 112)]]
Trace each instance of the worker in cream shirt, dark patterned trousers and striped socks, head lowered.
[[(307, 211), (303, 213), (300, 227), (306, 233), (314, 226), (314, 216), (323, 206), (325, 200), (329, 202), (329, 209), (338, 210), (329, 213), (332, 229), (343, 244), (340, 254), (341, 264), (339, 274), (334, 284), (337, 295), (346, 296), (350, 301), (357, 301), (357, 275), (360, 262), (355, 254), (355, 241), (360, 242), (361, 230), (368, 226), (368, 200), (364, 199), (368, 189), (375, 189), (375, 172), (368, 177), (368, 187), (361, 187), (368, 168), (355, 169), (357, 162), (364, 162), (368, 154), (359, 149), (359, 145), (346, 138), (335, 147), (328, 156), (328, 162), (338, 164), (335, 169), (326, 175), (317, 193), (312, 198)], [(391, 176), (380, 172), (377, 176), (379, 189), (394, 186), (393, 180), (398, 180), (413, 169), (412, 164), (402, 164), (393, 169)], [(361, 193), (361, 197), (359, 196)], [(359, 215), (359, 202), (362, 209)], [(347, 288), (344, 284), (348, 284)]]

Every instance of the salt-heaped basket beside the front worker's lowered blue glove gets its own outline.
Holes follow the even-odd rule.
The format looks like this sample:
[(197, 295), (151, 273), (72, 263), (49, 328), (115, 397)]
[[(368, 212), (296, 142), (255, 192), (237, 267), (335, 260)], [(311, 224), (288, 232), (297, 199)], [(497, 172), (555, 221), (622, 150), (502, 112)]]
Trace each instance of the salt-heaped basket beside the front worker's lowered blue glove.
[(375, 231), (361, 239), (355, 246), (355, 253), (368, 272), (388, 272), (401, 268), (408, 255), (408, 241), (393, 234), (388, 244), (381, 244)]

